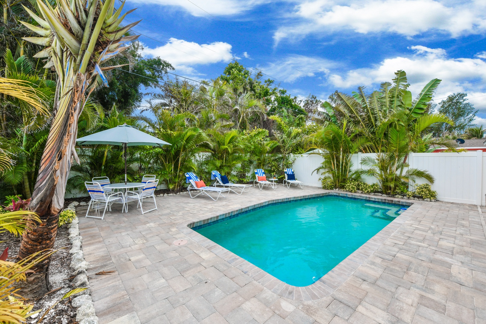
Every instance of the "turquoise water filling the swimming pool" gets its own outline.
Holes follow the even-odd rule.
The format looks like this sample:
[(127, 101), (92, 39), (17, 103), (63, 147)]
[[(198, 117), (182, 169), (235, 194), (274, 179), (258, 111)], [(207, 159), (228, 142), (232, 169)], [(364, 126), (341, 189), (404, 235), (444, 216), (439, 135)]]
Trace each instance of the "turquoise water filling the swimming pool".
[(194, 227), (293, 286), (308, 286), (398, 216), (401, 205), (324, 196)]

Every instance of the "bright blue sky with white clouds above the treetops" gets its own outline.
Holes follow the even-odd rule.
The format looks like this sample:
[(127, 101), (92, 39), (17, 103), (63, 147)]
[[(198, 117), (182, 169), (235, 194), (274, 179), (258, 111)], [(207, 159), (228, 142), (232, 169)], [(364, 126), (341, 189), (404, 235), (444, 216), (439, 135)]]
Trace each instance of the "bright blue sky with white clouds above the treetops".
[(442, 79), (436, 102), (467, 92), (486, 123), (486, 0), (127, 0), (143, 19), (143, 55), (193, 79), (231, 59), (297, 97), (368, 91), (407, 72), (416, 96)]

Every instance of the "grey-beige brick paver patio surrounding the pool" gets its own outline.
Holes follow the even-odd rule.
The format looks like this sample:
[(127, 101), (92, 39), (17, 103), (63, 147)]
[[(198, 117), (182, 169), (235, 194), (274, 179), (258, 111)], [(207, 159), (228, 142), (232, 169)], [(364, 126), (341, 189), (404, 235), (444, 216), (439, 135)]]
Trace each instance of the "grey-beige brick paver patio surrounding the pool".
[[(171, 195), (157, 197), (158, 210), (145, 215), (115, 205), (103, 221), (78, 208), (100, 324), (486, 324), (486, 238), (476, 205), (417, 202), (344, 283), (313, 301), (281, 297), (177, 228), (322, 192), (252, 188), (217, 202)], [(189, 242), (174, 246), (177, 239)], [(103, 270), (116, 273), (95, 275)]]

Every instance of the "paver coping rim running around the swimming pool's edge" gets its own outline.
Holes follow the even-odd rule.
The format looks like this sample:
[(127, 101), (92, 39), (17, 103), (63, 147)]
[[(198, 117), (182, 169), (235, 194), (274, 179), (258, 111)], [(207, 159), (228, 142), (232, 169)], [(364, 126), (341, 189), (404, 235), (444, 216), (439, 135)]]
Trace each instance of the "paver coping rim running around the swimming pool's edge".
[[(417, 209), (422, 205), (421, 202), (406, 199), (399, 199), (394, 197), (382, 197), (375, 195), (366, 195), (351, 192), (342, 192), (334, 190), (323, 190), (323, 193), (302, 195), (296, 197), (288, 197), (282, 199), (273, 199), (262, 202), (260, 204), (250, 205), (244, 208), (239, 208), (232, 210), (217, 216), (202, 216), (198, 219), (188, 220), (180, 222), (177, 224), (177, 229), (187, 235), (189, 238), (200, 244), (202, 247), (208, 249), (216, 256), (223, 258), (226, 262), (234, 266), (235, 268), (241, 270), (243, 273), (249, 275), (253, 280), (260, 283), (265, 288), (271, 290), (272, 292), (278, 294), (281, 297), (296, 301), (313, 301), (319, 300), (326, 296), (332, 294), (336, 289), (338, 289), (346, 280), (351, 276), (364, 262), (373, 255), (374, 252), (388, 239), (390, 238), (399, 227), (407, 221), (410, 216), (417, 211)], [(273, 275), (265, 272), (259, 267), (253, 265), (252, 263), (246, 261), (242, 257), (232, 253), (223, 246), (213, 242), (212, 240), (206, 238), (205, 236), (199, 234), (198, 232), (192, 230), (191, 227), (199, 226), (209, 222), (217, 221), (222, 218), (226, 218), (238, 213), (248, 211), (250, 209), (275, 204), (290, 202), (302, 199), (317, 198), (324, 196), (341, 196), (357, 199), (365, 199), (369, 201), (377, 201), (383, 203), (391, 203), (398, 205), (408, 205), (409, 208), (401, 213), (395, 220), (390, 222), (388, 225), (383, 227), (383, 229), (375, 234), (371, 239), (367, 240), (362, 246), (357, 250), (347, 256), (338, 265), (331, 269), (328, 273), (323, 275), (319, 280), (314, 282), (312, 285), (305, 287), (296, 287), (289, 285)]]

